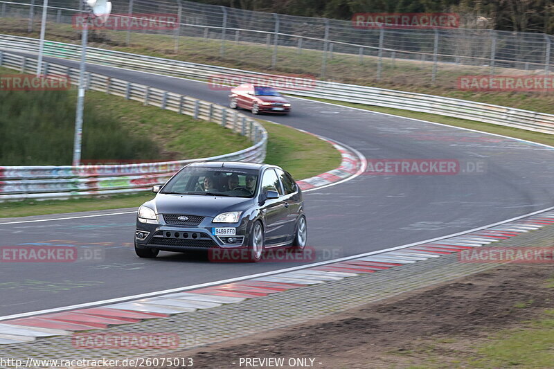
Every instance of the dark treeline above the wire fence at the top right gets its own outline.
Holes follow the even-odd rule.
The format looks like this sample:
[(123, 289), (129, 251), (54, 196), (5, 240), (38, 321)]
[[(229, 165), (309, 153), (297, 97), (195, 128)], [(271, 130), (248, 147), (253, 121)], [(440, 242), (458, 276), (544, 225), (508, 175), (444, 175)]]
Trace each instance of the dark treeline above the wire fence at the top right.
[(246, 10), (352, 19), (358, 12), (454, 12), (462, 26), (554, 33), (553, 0), (195, 0)]

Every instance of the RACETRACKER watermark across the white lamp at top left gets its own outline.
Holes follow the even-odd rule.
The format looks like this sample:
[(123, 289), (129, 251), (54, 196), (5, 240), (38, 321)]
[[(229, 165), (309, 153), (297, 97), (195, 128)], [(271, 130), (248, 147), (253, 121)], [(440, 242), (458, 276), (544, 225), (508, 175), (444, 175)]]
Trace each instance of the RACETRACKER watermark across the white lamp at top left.
[(87, 13), (73, 15), (73, 28), (82, 30), (89, 20), (89, 30), (175, 30), (179, 28), (177, 15), (165, 13), (111, 14), (104, 22), (103, 17), (89, 17)]

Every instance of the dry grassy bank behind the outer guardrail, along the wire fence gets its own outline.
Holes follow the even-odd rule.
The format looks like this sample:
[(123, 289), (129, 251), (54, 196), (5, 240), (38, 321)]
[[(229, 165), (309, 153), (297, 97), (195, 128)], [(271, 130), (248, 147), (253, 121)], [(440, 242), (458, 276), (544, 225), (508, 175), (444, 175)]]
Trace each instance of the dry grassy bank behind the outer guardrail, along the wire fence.
[[(1, 33), (38, 37), (35, 32), (27, 32), (26, 22), (20, 19), (3, 18), (0, 26)], [(48, 23), (46, 38), (52, 41), (76, 44), (80, 33), (70, 25)], [(193, 32), (183, 30), (183, 32)], [(248, 69), (267, 73), (315, 75), (320, 77), (322, 53), (321, 51), (303, 50), (298, 53), (295, 47), (279, 46), (278, 60), (275, 70), (269, 69), (273, 47), (260, 44), (232, 41), (226, 42), (226, 54), (220, 55), (221, 42), (217, 39), (202, 39), (201, 37), (179, 38), (179, 52), (175, 53), (175, 39), (168, 35), (145, 35), (132, 33), (131, 43), (125, 44), (125, 32), (96, 31), (91, 37), (91, 46), (109, 48), (117, 51), (167, 57), (175, 60), (185, 60), (228, 66), (232, 68)], [(192, 34), (191, 34), (192, 35)], [(215, 35), (212, 35), (215, 37)], [(354, 51), (357, 53), (357, 49)], [(388, 55), (385, 55), (388, 56)], [(438, 64), (436, 84), (431, 85), (431, 62), (406, 61), (384, 57), (382, 79), (377, 80), (377, 57), (368, 55), (360, 62), (357, 55), (334, 53), (328, 60), (326, 79), (336, 82), (361, 84), (385, 89), (400, 89), (417, 93), (428, 93), (437, 96), (474, 100), (494, 105), (517, 107), (533, 111), (543, 111), (554, 114), (554, 94), (548, 92), (474, 92), (459, 91), (456, 84), (461, 75), (489, 74), (489, 67), (463, 66), (455, 64)], [(539, 71), (542, 73), (542, 71)], [(514, 69), (496, 69), (497, 75), (521, 75), (535, 73), (535, 71), (520, 71)]]

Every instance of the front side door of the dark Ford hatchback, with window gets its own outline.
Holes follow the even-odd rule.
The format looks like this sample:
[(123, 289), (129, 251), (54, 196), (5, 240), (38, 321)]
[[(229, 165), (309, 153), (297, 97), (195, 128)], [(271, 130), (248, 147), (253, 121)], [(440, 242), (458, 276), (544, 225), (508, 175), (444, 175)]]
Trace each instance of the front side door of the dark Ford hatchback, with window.
[(283, 201), (283, 189), (277, 173), (273, 168), (266, 169), (262, 174), (262, 183), (260, 195), (265, 190), (277, 191), (280, 195), (278, 199), (267, 199), (261, 206), (262, 215), (265, 218), (265, 243), (267, 246), (280, 244), (287, 240), (287, 204)]

